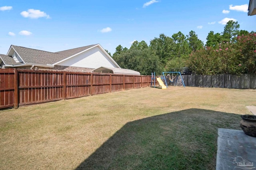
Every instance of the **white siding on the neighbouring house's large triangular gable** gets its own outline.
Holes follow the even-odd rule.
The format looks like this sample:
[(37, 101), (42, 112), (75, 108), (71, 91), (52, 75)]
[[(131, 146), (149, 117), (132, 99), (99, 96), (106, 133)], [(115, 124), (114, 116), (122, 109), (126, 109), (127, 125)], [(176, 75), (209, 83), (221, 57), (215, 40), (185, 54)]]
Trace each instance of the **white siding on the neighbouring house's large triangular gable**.
[(75, 66), (84, 68), (98, 68), (100, 66), (118, 68), (99, 47), (94, 47), (84, 53), (76, 55), (68, 60), (62, 61), (57, 65)]

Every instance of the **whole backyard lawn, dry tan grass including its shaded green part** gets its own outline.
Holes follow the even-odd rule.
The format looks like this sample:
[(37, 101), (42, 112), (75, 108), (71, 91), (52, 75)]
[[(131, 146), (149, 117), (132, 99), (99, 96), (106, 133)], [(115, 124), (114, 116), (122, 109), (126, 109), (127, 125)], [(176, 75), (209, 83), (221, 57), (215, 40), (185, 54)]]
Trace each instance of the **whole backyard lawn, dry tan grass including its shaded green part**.
[(0, 111), (0, 169), (215, 169), (256, 90), (142, 88)]

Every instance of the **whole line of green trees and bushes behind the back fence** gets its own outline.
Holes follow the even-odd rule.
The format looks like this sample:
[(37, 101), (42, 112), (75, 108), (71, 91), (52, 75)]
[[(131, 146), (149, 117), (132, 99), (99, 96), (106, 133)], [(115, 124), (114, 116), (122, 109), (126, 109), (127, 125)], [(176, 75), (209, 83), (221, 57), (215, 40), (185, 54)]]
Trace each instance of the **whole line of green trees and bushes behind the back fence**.
[(118, 45), (112, 58), (121, 68), (142, 75), (184, 68), (194, 74), (255, 74), (256, 32), (239, 28), (237, 21), (228, 21), (222, 33), (208, 33), (205, 45), (195, 31), (171, 37), (161, 33), (149, 45), (145, 41), (134, 41), (130, 49)]

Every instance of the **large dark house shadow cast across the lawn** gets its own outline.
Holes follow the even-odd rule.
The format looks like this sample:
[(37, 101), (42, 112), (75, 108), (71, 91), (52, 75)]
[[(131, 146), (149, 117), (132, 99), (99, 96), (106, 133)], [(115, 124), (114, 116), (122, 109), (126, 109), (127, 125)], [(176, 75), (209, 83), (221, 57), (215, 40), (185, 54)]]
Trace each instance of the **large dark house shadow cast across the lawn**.
[(238, 129), (240, 115), (186, 109), (126, 123), (81, 169), (215, 169), (218, 128)]

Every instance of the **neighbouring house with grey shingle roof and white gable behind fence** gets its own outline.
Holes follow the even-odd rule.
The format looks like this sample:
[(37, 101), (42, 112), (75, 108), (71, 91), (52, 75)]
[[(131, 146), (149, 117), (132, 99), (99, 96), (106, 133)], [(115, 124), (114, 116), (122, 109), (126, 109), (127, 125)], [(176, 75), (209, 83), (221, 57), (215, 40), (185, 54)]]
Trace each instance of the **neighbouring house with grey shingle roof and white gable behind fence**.
[(11, 45), (6, 55), (0, 54), (1, 68), (91, 72), (102, 66), (122, 70), (100, 44), (56, 53)]

